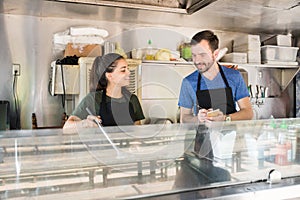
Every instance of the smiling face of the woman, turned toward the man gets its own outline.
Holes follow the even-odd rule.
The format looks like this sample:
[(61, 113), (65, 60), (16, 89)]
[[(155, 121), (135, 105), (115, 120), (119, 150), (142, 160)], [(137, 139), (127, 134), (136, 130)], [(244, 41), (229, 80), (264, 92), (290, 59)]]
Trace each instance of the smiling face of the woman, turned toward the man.
[(114, 69), (112, 72), (106, 72), (106, 78), (108, 84), (123, 87), (129, 85), (130, 71), (128, 69), (128, 64), (125, 59), (119, 59), (113, 64)]

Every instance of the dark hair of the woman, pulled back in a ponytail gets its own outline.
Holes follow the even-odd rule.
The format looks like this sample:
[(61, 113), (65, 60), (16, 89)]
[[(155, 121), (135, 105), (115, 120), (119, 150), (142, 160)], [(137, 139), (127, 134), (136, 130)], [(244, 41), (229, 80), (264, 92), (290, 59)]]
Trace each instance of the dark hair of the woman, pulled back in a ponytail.
[(113, 72), (121, 59), (124, 59), (124, 57), (116, 53), (109, 53), (95, 58), (90, 71), (90, 92), (106, 89), (107, 79), (105, 73)]

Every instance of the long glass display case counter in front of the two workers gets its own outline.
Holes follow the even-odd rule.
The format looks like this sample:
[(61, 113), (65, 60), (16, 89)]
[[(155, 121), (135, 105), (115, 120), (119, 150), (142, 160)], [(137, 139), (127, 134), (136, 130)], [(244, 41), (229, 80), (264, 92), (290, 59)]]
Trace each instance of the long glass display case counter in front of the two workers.
[(299, 118), (0, 132), (0, 199), (288, 199), (299, 188)]

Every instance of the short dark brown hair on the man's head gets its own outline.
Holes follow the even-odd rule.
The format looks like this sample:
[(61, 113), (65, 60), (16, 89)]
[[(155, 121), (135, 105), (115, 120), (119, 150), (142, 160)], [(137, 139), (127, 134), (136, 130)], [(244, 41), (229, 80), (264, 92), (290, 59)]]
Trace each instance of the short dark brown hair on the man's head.
[(198, 32), (197, 34), (195, 34), (192, 37), (191, 45), (196, 45), (199, 42), (201, 42), (201, 40), (208, 41), (209, 47), (212, 50), (212, 52), (214, 52), (216, 49), (219, 48), (219, 39), (214, 34), (214, 32), (212, 32), (210, 30), (201, 31), (201, 32)]

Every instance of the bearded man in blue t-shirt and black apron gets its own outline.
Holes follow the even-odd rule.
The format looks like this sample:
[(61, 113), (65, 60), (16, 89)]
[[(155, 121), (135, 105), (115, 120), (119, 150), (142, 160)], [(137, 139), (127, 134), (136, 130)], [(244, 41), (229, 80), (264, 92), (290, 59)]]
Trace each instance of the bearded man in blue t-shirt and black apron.
[[(240, 72), (217, 63), (218, 37), (209, 30), (199, 32), (192, 38), (191, 49), (197, 70), (182, 81), (178, 102), (180, 121), (252, 119), (249, 92)], [(216, 111), (212, 114), (212, 110)]]

